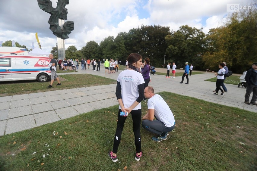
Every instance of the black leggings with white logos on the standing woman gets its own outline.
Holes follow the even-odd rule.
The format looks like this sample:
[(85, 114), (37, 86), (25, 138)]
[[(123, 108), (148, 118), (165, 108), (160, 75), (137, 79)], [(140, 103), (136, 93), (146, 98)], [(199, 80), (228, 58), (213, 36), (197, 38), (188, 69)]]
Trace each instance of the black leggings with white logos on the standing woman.
[[(117, 128), (116, 128), (116, 133), (113, 139), (113, 153), (117, 153), (118, 148), (119, 148), (119, 143), (121, 139), (121, 133), (123, 130), (123, 126), (125, 123), (125, 120), (127, 117), (119, 116), (119, 113), (121, 110), (119, 109), (118, 112), (118, 122), (117, 122)], [(141, 152), (141, 137), (140, 137), (140, 124), (141, 124), (141, 115), (142, 115), (142, 110), (132, 110), (131, 112), (131, 117), (133, 120), (133, 132), (135, 136), (135, 145), (136, 145), (136, 151), (137, 153)]]

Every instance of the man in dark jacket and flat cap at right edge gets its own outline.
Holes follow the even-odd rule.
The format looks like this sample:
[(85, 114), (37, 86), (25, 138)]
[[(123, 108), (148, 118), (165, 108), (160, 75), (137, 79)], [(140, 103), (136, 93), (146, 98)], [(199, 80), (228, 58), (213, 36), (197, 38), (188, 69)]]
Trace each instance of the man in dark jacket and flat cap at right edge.
[[(257, 62), (252, 64), (252, 68), (247, 71), (245, 80), (247, 83), (245, 103), (257, 105)], [(249, 102), (250, 94), (252, 93), (252, 100)]]

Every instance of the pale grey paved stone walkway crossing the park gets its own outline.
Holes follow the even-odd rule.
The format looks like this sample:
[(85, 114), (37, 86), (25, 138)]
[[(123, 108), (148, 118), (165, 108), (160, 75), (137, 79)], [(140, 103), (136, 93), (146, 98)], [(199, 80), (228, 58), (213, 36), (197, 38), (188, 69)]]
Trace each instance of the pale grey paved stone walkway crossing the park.
[[(119, 74), (105, 75), (103, 66), (101, 71), (94, 71), (91, 67), (89, 70), (78, 71), (76, 74), (90, 73), (115, 80)], [(173, 92), (257, 112), (257, 106), (244, 104), (245, 88), (226, 84), (228, 92), (224, 96), (212, 95), (212, 90), (216, 88), (215, 82), (204, 80), (213, 77), (213, 73), (192, 75), (189, 76), (189, 85), (186, 85), (179, 83), (181, 76), (172, 79), (162, 75), (151, 75), (149, 85), (154, 87), (155, 93)], [(111, 84), (0, 97), (0, 136), (119, 104), (115, 90), (116, 84)]]

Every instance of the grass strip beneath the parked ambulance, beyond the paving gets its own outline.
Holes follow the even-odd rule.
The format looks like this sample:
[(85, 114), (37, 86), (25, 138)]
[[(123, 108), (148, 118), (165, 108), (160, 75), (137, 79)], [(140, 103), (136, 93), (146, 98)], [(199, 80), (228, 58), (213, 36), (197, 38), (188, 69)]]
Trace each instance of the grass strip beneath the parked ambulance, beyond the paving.
[[(36, 80), (1, 82), (0, 97), (10, 96), (10, 95), (19, 95), (24, 93), (36, 93), (36, 92), (46, 92), (46, 91), (61, 90), (61, 89), (88, 87), (88, 86), (95, 86), (95, 85), (115, 84), (117, 82), (114, 79), (95, 76), (91, 74), (60, 75), (59, 79), (61, 80), (62, 85), (56, 86), (57, 81), (54, 81), (53, 88), (50, 88), (50, 89), (47, 88), (50, 82), (38, 82)], [(97, 79), (97, 81), (92, 81), (95, 79)]]

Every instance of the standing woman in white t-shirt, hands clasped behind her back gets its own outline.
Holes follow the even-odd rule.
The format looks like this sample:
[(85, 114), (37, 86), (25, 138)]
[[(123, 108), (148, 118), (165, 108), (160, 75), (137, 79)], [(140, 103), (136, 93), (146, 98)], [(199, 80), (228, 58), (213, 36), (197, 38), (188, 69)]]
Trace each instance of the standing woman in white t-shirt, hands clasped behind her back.
[(138, 69), (142, 65), (142, 57), (132, 53), (128, 56), (128, 70), (122, 71), (117, 78), (116, 97), (119, 101), (119, 112), (116, 133), (113, 141), (113, 151), (109, 152), (109, 157), (113, 162), (118, 161), (117, 151), (121, 140), (121, 133), (127, 116), (120, 116), (120, 112), (131, 113), (133, 120), (133, 132), (135, 136), (136, 156), (139, 161), (141, 152), (141, 101), (144, 98), (144, 78)]

